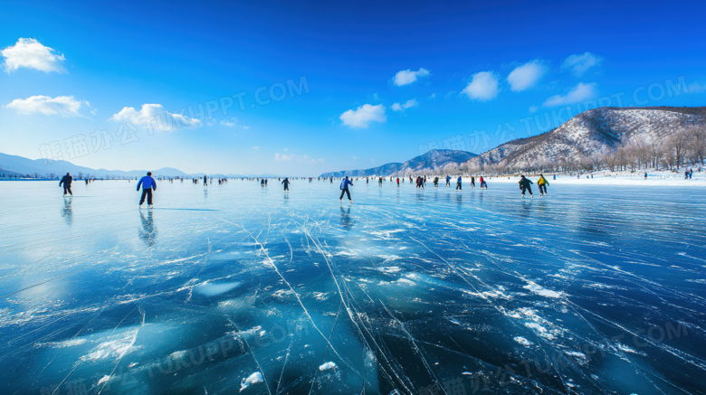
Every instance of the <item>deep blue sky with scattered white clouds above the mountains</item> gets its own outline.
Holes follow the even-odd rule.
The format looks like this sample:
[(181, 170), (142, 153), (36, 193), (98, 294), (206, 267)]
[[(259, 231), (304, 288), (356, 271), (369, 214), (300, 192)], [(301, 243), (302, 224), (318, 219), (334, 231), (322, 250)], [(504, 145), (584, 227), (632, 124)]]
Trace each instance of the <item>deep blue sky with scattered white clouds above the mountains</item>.
[[(3, 2), (0, 152), (318, 175), (402, 162), (434, 142), (482, 151), (528, 136), (527, 122), (538, 133), (528, 117), (565, 119), (559, 108), (576, 115), (576, 103), (619, 92), (634, 104), (635, 89), (665, 80), (680, 94), (655, 86), (641, 103), (706, 99), (703, 2), (379, 3)], [(255, 103), (255, 89), (267, 99), (302, 76), (309, 93)], [(244, 110), (235, 99), (227, 115), (191, 120), (199, 103), (240, 92)], [(184, 127), (150, 135), (139, 120), (156, 114)], [(138, 141), (121, 144), (127, 122), (137, 131), (122, 136)]]

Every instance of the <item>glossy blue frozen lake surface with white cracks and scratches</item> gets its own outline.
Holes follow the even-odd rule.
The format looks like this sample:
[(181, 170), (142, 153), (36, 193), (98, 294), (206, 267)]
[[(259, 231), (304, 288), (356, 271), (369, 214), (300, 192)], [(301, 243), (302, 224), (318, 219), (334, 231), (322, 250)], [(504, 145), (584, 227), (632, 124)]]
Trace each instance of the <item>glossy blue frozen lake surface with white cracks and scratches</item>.
[(0, 393), (706, 393), (703, 188), (3, 182)]

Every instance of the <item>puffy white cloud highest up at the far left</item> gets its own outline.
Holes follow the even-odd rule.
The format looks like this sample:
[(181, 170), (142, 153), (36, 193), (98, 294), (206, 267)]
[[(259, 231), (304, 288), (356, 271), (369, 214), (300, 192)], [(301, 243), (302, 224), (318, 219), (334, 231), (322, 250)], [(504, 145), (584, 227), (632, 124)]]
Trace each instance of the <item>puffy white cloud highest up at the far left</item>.
[(66, 59), (52, 48), (45, 47), (33, 38), (21, 38), (2, 52), (5, 57), (5, 71), (15, 71), (21, 67), (44, 72), (62, 72), (62, 61)]

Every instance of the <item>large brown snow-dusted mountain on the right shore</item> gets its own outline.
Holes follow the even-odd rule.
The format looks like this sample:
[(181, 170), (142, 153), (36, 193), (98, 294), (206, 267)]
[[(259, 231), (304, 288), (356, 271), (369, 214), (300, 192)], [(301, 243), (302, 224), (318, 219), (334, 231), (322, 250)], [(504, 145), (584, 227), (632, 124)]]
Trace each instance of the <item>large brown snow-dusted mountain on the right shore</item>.
[(704, 121), (700, 108), (595, 108), (556, 129), (512, 140), (470, 159), (469, 169), (502, 164), (510, 167), (558, 163), (614, 151), (621, 141), (664, 139), (679, 126)]

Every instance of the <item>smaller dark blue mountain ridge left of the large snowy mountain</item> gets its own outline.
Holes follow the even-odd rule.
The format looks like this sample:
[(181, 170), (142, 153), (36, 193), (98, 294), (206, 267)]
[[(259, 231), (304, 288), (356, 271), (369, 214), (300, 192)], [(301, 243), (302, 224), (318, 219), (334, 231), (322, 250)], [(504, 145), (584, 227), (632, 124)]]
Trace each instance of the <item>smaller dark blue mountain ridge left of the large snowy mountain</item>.
[(432, 149), (424, 155), (416, 156), (403, 164), (386, 164), (365, 170), (341, 170), (321, 174), (320, 177), (367, 177), (370, 175), (392, 175), (417, 172), (425, 169), (442, 168), (445, 165), (460, 165), (477, 155), (467, 151), (454, 151), (452, 149)]

